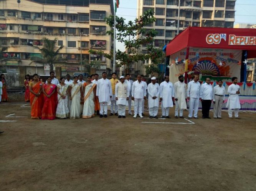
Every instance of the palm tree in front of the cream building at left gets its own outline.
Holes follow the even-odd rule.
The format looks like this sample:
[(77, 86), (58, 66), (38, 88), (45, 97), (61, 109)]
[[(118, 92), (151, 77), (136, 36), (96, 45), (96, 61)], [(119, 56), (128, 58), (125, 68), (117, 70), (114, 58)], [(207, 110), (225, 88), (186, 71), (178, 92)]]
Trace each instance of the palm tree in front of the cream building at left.
[[(35, 49), (38, 49), (41, 52), (42, 58), (37, 56), (31, 56), (31, 63), (41, 63), (43, 65), (49, 65), (50, 71), (53, 71), (53, 65), (55, 63), (66, 63), (65, 59), (61, 58), (59, 54), (60, 50), (63, 49), (63, 46), (58, 47), (57, 38), (50, 40), (48, 38), (43, 38), (43, 48), (34, 46)], [(31, 64), (30, 63), (30, 64)]]

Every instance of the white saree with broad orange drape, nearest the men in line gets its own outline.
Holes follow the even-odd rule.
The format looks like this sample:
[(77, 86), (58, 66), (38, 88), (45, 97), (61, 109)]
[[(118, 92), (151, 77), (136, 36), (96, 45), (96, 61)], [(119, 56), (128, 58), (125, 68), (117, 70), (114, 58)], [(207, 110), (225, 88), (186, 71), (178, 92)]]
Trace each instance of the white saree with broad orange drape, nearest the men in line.
[(86, 84), (84, 91), (84, 109), (83, 109), (83, 118), (94, 117), (94, 93), (93, 90), (96, 87), (96, 84)]

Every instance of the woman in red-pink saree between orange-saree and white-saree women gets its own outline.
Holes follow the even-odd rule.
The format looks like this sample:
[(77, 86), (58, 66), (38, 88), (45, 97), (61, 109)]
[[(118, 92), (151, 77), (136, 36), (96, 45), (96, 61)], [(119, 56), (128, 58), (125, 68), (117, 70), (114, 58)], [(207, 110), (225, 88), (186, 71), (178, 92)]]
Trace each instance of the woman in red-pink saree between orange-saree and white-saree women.
[(54, 120), (56, 115), (56, 85), (51, 83), (51, 77), (47, 78), (47, 84), (43, 84), (44, 104), (42, 109), (42, 119)]

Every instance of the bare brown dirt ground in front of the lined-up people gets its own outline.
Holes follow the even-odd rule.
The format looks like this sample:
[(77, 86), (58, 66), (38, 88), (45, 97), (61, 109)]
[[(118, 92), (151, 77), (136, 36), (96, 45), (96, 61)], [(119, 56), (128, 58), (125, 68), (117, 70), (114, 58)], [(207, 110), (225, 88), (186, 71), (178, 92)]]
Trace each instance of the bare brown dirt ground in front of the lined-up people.
[(49, 121), (25, 104), (0, 104), (0, 190), (256, 190), (256, 113)]

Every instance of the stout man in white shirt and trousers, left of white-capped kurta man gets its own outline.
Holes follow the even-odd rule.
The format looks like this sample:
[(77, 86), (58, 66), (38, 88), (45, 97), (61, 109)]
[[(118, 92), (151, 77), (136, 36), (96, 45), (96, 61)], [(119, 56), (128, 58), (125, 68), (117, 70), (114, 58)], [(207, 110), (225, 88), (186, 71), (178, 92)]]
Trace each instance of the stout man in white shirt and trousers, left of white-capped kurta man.
[(134, 100), (134, 116), (137, 117), (137, 113), (139, 113), (139, 117), (142, 116), (142, 107), (143, 107), (143, 99), (146, 99), (147, 89), (145, 84), (141, 81), (141, 76), (137, 76), (137, 81), (132, 84), (132, 100)]

